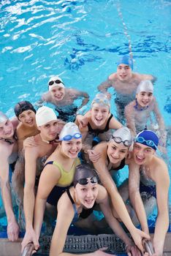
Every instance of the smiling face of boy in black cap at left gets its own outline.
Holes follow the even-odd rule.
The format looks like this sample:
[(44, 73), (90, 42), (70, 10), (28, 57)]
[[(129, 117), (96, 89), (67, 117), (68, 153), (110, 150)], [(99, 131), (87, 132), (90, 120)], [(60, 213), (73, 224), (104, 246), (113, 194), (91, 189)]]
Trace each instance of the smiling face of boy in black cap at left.
[(36, 118), (33, 110), (23, 111), (18, 116), (18, 119), (27, 127), (34, 127), (36, 125)]

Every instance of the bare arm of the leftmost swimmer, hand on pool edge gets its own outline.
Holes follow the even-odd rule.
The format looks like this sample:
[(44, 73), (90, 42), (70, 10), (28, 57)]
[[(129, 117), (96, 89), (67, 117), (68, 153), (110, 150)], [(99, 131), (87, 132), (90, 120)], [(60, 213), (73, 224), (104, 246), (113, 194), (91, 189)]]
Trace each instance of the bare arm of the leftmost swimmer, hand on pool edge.
[[(3, 150), (2, 150), (3, 149)], [(0, 151), (0, 185), (1, 185), (1, 197), (4, 203), (4, 209), (7, 214), (7, 235), (10, 241), (16, 241), (19, 235), (18, 223), (15, 219), (15, 214), (12, 208), (11, 189), (9, 185), (9, 150), (8, 148), (2, 148)], [(3, 157), (2, 157), (3, 156)]]

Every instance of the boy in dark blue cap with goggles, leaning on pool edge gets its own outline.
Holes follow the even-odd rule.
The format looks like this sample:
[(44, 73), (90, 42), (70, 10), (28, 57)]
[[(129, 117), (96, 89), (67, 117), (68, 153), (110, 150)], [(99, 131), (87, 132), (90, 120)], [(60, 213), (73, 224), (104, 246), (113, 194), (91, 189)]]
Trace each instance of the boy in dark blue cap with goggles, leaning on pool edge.
[[(156, 156), (159, 138), (151, 130), (140, 132), (134, 140), (133, 161), (129, 164), (129, 199), (131, 200), (142, 230), (148, 231), (148, 222), (143, 206), (142, 193), (155, 199), (158, 208), (153, 236), (156, 256), (163, 255), (164, 239), (169, 227), (168, 193), (170, 177), (164, 160)], [(154, 206), (154, 204), (153, 204)], [(151, 206), (150, 206), (151, 207)]]

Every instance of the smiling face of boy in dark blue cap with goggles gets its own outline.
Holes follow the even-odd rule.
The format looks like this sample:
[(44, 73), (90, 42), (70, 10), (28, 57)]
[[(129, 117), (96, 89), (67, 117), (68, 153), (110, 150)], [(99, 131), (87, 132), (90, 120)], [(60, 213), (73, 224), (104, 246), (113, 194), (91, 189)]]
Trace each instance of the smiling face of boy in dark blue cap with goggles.
[(155, 150), (149, 146), (142, 145), (141, 143), (134, 143), (133, 156), (134, 162), (137, 165), (145, 165), (151, 161)]

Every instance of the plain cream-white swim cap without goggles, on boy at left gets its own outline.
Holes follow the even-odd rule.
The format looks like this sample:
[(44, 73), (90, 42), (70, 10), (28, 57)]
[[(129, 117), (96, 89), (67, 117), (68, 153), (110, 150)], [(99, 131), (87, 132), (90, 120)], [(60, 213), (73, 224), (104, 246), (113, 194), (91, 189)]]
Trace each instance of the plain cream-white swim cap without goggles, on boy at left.
[(36, 122), (37, 127), (41, 127), (44, 124), (47, 124), (49, 121), (57, 120), (56, 113), (52, 108), (42, 106), (37, 110), (36, 113)]

